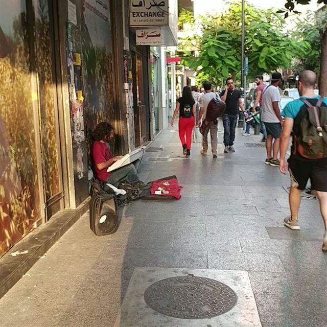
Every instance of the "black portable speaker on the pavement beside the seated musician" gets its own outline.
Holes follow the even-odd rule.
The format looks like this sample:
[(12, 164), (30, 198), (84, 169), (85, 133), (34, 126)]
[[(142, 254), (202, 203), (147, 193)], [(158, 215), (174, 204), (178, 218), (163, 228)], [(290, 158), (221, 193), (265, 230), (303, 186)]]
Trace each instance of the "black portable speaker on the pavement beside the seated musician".
[(113, 194), (98, 192), (90, 201), (90, 228), (97, 236), (114, 233), (118, 229), (118, 204)]

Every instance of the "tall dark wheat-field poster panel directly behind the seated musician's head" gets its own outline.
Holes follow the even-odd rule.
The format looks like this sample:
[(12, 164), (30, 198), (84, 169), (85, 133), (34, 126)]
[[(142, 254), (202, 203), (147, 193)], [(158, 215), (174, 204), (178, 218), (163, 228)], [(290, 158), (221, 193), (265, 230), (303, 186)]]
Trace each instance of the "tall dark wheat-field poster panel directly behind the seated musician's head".
[(116, 121), (112, 30), (109, 0), (85, 0), (82, 9), (83, 108), (90, 145), (91, 134), (97, 124), (106, 121), (114, 125)]

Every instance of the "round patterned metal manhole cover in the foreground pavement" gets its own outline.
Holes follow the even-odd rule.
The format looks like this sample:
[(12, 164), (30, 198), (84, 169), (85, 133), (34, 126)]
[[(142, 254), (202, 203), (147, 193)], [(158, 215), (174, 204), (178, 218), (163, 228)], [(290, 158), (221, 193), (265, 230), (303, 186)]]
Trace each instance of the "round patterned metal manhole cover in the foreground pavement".
[(183, 319), (213, 318), (237, 303), (236, 293), (227, 285), (194, 275), (162, 279), (146, 289), (144, 299), (151, 309)]

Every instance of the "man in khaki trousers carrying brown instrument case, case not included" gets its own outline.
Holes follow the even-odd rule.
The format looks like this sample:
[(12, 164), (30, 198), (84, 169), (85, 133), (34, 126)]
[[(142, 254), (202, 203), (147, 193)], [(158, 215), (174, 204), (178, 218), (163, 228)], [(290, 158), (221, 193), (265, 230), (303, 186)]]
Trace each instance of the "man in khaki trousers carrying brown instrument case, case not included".
[[(212, 90), (211, 83), (205, 81), (203, 83), (204, 94), (200, 97), (200, 111), (199, 111), (199, 119), (198, 119), (198, 126), (201, 125), (201, 119), (205, 120), (206, 112), (208, 108), (209, 102), (219, 97), (215, 94)], [(201, 154), (205, 155), (208, 151), (208, 132), (210, 131), (210, 140), (211, 140), (211, 151), (214, 158), (217, 158), (218, 154), (218, 122), (217, 120), (211, 122), (203, 131), (202, 134), (202, 149)]]

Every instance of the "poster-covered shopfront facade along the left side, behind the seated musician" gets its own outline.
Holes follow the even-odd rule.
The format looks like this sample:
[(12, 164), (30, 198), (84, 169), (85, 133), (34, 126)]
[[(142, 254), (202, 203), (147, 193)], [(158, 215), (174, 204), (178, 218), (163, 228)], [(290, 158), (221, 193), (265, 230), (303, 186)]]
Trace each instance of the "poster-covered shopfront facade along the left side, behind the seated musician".
[(162, 129), (162, 53), (136, 44), (129, 5), (0, 0), (0, 256), (88, 198), (99, 122), (120, 154)]

